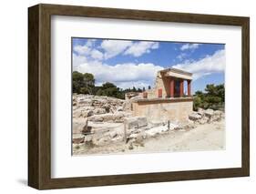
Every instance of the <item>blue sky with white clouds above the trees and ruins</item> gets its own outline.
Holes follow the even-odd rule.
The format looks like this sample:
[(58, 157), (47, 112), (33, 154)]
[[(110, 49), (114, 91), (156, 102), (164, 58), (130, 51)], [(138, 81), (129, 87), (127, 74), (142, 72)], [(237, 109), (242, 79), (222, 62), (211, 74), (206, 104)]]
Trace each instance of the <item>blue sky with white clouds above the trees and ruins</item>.
[(224, 44), (72, 38), (72, 49), (73, 71), (92, 73), (98, 86), (154, 87), (168, 67), (191, 72), (193, 92), (224, 83)]

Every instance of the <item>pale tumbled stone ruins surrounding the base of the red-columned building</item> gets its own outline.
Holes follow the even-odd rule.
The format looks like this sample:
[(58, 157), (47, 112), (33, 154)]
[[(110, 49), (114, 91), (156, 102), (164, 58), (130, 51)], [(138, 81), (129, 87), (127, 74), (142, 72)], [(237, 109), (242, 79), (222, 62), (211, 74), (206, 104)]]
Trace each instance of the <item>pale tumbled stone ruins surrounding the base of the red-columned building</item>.
[(199, 109), (189, 114), (186, 122), (151, 120), (134, 117), (132, 103), (138, 97), (122, 100), (115, 97), (73, 95), (73, 145), (88, 148), (117, 142), (131, 143), (168, 133), (170, 130), (189, 130), (198, 125), (220, 121), (219, 110)]

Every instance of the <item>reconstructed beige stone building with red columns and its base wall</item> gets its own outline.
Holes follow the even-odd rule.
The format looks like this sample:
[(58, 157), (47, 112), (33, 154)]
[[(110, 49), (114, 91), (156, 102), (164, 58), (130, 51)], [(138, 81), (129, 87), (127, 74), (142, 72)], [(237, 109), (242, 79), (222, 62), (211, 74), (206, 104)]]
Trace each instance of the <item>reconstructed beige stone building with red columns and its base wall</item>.
[(133, 101), (133, 115), (151, 120), (186, 121), (193, 110), (191, 81), (189, 72), (176, 68), (159, 71), (155, 87), (143, 92), (143, 98)]

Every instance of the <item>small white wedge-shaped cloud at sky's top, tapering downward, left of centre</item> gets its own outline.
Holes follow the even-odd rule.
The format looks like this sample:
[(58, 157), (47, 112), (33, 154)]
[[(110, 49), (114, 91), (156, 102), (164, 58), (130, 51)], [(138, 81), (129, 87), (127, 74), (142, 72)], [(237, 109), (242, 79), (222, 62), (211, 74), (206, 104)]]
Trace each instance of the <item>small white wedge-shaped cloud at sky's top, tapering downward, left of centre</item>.
[(104, 49), (104, 56), (106, 59), (113, 56), (118, 56), (122, 53), (128, 46), (131, 46), (132, 42), (128, 40), (103, 40), (101, 43), (101, 48)]

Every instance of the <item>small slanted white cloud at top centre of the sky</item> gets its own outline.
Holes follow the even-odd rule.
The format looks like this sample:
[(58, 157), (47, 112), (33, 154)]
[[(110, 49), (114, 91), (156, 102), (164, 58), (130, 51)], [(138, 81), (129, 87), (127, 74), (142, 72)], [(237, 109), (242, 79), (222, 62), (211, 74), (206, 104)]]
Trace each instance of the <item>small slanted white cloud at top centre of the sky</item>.
[(159, 43), (139, 41), (129, 46), (124, 55), (142, 56), (144, 53), (149, 53), (151, 49), (157, 48), (159, 48)]

